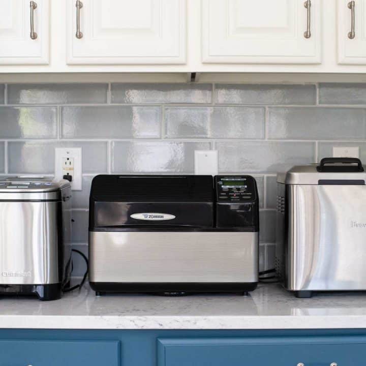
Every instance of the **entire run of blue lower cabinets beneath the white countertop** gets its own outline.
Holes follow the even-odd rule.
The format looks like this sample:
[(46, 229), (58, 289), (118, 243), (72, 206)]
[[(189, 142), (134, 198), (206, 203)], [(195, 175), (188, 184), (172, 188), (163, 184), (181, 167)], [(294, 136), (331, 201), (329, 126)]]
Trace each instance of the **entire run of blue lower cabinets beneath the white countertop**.
[(0, 329), (0, 366), (362, 366), (366, 330)]

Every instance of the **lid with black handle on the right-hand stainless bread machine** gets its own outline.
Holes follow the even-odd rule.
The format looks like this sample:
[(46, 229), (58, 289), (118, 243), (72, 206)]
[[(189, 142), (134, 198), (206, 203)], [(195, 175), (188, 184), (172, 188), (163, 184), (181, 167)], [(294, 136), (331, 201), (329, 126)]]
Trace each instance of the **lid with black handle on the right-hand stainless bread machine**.
[(289, 185), (364, 185), (366, 172), (356, 158), (324, 158), (319, 164), (298, 165), (277, 174)]

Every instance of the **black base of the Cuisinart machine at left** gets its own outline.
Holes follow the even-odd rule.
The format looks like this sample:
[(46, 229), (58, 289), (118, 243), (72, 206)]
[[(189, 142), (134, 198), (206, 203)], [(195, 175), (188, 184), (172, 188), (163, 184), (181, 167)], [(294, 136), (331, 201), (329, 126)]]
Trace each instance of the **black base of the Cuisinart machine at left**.
[(41, 301), (57, 300), (62, 296), (62, 284), (48, 285), (1, 285), (0, 297), (7, 295), (26, 296), (36, 295)]

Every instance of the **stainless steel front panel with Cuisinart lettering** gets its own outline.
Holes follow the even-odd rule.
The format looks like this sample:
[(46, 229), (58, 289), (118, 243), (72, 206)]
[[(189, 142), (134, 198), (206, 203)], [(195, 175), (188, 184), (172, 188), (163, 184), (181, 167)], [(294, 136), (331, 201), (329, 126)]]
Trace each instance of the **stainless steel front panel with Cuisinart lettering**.
[(62, 281), (60, 215), (60, 201), (0, 202), (0, 284)]

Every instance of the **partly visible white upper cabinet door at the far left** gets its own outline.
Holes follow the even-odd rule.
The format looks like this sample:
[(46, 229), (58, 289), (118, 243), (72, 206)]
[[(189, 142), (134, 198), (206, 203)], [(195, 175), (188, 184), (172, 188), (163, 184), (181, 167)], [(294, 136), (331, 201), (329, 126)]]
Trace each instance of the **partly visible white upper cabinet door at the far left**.
[(0, 0), (0, 64), (49, 63), (49, 0)]

